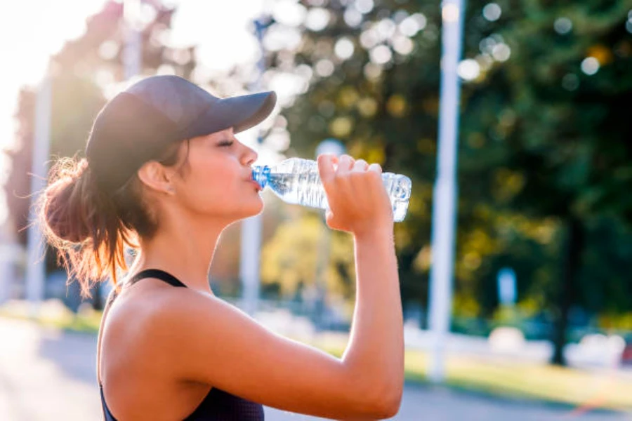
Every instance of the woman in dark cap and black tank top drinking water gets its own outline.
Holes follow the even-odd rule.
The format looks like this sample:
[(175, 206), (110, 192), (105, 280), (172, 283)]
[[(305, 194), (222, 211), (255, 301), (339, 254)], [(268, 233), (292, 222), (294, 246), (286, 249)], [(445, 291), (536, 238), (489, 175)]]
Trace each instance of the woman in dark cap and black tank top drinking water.
[(271, 333), (209, 287), (223, 229), (263, 208), (256, 153), (235, 133), (265, 119), (275, 98), (220, 100), (153, 76), (105, 105), (86, 159), (53, 167), (41, 209), (48, 240), (84, 292), (114, 281), (98, 340), (107, 421), (263, 420), (263, 405), (348, 420), (397, 413), (402, 309), (378, 165), (318, 159), (327, 224), (355, 239), (357, 304), (341, 359)]

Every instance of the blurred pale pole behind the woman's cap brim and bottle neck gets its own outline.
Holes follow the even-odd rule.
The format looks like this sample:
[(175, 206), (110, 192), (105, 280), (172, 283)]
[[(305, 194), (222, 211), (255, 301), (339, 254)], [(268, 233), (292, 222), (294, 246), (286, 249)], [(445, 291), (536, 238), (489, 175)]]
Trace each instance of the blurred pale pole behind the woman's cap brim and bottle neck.
[[(257, 64), (258, 74), (251, 91), (261, 91), (261, 78), (265, 72), (265, 50), (263, 48), (263, 24), (265, 22), (265, 9), (261, 18), (255, 20), (256, 36), (261, 49), (261, 58)], [(257, 145), (261, 145), (261, 135), (257, 136)], [(242, 221), (242, 245), (241, 258), (239, 260), (239, 277), (243, 287), (243, 309), (251, 317), (256, 315), (259, 304), (259, 256), (261, 254), (261, 230), (263, 227), (261, 213)]]

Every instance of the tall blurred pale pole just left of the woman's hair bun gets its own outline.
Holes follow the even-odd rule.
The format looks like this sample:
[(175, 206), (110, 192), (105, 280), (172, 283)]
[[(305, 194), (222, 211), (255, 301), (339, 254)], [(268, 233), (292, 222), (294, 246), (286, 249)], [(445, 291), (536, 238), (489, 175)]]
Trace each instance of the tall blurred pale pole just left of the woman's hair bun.
[(35, 223), (32, 213), (39, 193), (46, 187), (48, 154), (51, 144), (51, 78), (48, 71), (37, 90), (35, 102), (35, 130), (33, 136), (33, 161), (31, 165), (31, 204), (29, 209), (29, 229), (27, 231), (26, 297), (30, 302), (31, 317), (39, 315), (41, 301), (44, 300), (46, 265), (44, 260), (44, 240), (41, 229)]

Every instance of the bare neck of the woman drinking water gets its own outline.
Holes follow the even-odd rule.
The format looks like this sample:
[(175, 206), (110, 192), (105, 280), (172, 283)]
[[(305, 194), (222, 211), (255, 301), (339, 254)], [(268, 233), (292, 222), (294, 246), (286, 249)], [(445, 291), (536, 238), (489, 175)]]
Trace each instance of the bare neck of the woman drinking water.
[(176, 276), (188, 288), (213, 293), (209, 285), (209, 267), (225, 223), (191, 222), (185, 218), (164, 227), (151, 239), (140, 240), (140, 250), (129, 269), (162, 269)]

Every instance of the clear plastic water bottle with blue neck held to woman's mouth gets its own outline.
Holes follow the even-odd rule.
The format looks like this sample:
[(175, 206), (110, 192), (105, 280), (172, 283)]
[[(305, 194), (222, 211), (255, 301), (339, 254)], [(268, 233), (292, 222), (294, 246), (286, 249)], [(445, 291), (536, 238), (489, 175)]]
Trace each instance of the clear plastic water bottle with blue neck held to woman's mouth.
[[(262, 189), (270, 187), (287, 203), (320, 209), (329, 207), (318, 163), (311, 159), (290, 158), (272, 167), (254, 166), (252, 178)], [(393, 173), (382, 173), (382, 181), (393, 205), (393, 220), (401, 222), (408, 210), (412, 182), (405, 175)]]

